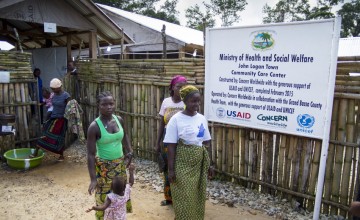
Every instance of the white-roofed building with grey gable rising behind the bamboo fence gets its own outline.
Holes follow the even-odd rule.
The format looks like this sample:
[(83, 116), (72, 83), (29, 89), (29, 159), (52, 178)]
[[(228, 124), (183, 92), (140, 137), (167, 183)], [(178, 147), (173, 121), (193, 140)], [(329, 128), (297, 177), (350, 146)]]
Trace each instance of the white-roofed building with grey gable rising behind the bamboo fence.
[[(125, 53), (130, 58), (161, 57), (164, 25), (168, 58), (193, 57), (195, 50), (197, 57), (203, 55), (204, 37), (202, 31), (106, 5), (97, 5), (134, 42), (126, 45), (126, 49), (124, 48)], [(115, 46), (116, 48), (119, 47)], [(120, 52), (120, 50), (115, 50), (116, 52)]]

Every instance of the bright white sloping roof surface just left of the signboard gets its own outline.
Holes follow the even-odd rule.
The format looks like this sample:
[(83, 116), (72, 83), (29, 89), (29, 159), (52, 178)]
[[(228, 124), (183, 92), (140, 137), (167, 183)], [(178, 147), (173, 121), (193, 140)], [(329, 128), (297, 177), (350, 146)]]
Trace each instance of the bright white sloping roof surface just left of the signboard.
[[(192, 28), (184, 27), (181, 25), (173, 24), (156, 18), (135, 14), (132, 12), (124, 11), (118, 8), (110, 7), (107, 5), (97, 4), (100, 8), (104, 8), (112, 13), (118, 14), (131, 21), (148, 27), (152, 30), (161, 32), (163, 25), (166, 26), (166, 35), (178, 39), (186, 44), (204, 45), (203, 32)], [(126, 30), (125, 30), (126, 31)]]

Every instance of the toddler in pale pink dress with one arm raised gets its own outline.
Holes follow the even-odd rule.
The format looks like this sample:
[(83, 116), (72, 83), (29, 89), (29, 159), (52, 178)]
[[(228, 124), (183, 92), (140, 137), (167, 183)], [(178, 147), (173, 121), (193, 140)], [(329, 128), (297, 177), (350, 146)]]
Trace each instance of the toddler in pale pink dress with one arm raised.
[(126, 220), (126, 202), (130, 199), (131, 186), (134, 184), (134, 169), (134, 164), (131, 164), (129, 166), (129, 184), (126, 184), (124, 177), (114, 177), (111, 183), (112, 192), (107, 194), (104, 204), (93, 206), (86, 212), (105, 211), (104, 220)]

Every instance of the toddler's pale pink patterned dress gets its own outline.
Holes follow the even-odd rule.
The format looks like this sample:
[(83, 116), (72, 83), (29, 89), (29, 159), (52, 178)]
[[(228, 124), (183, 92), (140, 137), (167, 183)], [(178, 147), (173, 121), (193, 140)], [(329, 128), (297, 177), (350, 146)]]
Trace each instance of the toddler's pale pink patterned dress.
[(126, 184), (124, 196), (119, 196), (115, 193), (107, 194), (110, 199), (110, 206), (105, 209), (104, 220), (125, 220), (126, 219), (126, 202), (130, 198), (130, 185)]

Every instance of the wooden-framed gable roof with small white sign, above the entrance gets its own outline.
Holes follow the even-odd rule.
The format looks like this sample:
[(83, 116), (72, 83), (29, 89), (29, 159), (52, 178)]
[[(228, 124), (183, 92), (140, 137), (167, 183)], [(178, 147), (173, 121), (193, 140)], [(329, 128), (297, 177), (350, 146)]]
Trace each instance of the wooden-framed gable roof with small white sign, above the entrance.
[(90, 0), (2, 0), (0, 40), (24, 50), (66, 47), (89, 48), (97, 57), (99, 46), (134, 43)]

